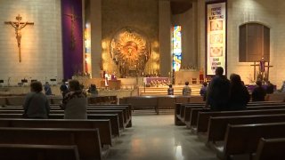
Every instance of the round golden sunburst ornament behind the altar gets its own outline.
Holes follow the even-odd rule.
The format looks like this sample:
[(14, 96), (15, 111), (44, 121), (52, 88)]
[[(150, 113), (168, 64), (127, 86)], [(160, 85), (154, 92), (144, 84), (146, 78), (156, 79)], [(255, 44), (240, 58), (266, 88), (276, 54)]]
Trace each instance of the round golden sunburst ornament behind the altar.
[(123, 28), (111, 40), (110, 54), (121, 76), (134, 76), (132, 73), (141, 73), (149, 60), (150, 44), (139, 32)]

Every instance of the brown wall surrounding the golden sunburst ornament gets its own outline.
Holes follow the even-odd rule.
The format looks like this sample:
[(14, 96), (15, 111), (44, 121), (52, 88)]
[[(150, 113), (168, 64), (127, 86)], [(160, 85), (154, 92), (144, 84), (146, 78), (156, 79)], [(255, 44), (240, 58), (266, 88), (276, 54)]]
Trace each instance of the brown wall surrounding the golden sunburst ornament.
[(118, 68), (110, 58), (110, 40), (121, 28), (134, 28), (149, 38), (151, 60), (144, 73), (159, 73), (159, 2), (153, 0), (102, 1), (102, 62), (109, 73)]

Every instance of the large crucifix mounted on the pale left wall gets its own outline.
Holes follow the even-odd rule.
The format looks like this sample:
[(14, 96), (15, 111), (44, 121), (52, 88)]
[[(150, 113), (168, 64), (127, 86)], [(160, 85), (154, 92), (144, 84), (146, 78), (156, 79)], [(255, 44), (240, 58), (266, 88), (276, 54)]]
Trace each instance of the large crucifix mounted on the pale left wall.
[(5, 24), (10, 24), (12, 28), (15, 28), (15, 35), (17, 39), (18, 49), (19, 49), (19, 62), (21, 61), (20, 58), (20, 38), (21, 38), (21, 29), (25, 28), (27, 25), (34, 25), (34, 22), (20, 22), (21, 17), (20, 14), (16, 17), (17, 21), (4, 21)]

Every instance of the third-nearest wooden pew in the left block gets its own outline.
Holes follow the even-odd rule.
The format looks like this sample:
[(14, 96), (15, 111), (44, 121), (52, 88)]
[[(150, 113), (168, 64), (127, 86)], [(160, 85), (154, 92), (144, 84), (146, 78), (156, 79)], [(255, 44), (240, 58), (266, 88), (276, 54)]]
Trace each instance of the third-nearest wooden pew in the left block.
[(110, 120), (69, 120), (69, 119), (1, 119), (0, 127), (22, 128), (84, 128), (99, 129), (101, 145), (112, 145)]

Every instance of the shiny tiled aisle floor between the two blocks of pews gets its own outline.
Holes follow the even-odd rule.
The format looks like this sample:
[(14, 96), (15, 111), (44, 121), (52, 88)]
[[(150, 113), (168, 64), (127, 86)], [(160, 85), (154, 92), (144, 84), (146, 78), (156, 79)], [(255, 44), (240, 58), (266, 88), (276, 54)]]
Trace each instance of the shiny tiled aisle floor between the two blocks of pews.
[(175, 126), (174, 115), (133, 116), (110, 148), (108, 160), (216, 160), (216, 154), (185, 126)]

